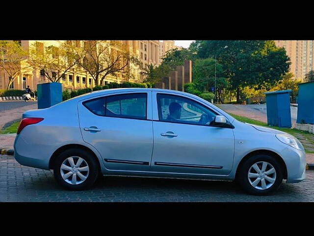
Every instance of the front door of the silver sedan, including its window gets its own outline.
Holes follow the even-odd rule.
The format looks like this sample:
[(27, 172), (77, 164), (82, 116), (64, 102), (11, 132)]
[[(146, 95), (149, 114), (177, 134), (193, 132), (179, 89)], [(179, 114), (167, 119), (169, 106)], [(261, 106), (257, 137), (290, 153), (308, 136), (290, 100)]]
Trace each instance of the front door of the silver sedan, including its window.
[[(234, 160), (232, 125), (230, 128), (212, 126), (210, 123), (220, 114), (191, 97), (155, 91), (152, 96), (151, 171), (228, 175)], [(181, 109), (180, 118), (176, 117), (178, 114), (171, 117), (170, 110), (175, 109)]]

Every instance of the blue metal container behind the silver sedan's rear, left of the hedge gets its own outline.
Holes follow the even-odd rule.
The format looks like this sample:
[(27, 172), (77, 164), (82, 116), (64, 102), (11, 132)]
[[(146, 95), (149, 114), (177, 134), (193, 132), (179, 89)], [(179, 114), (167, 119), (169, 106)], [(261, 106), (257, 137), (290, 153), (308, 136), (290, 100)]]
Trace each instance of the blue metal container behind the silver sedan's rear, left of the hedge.
[(62, 102), (62, 84), (53, 82), (37, 85), (37, 100), (38, 109)]

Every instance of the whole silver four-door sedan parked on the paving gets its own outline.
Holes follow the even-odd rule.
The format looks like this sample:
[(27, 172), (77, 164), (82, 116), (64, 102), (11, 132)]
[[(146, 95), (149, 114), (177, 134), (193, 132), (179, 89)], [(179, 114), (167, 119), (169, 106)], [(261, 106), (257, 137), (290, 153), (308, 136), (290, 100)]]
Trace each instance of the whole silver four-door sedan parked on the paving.
[(14, 151), (20, 164), (52, 169), (70, 190), (119, 175), (237, 180), (265, 195), (283, 179), (302, 181), (306, 167), (295, 137), (166, 89), (106, 89), (27, 111)]

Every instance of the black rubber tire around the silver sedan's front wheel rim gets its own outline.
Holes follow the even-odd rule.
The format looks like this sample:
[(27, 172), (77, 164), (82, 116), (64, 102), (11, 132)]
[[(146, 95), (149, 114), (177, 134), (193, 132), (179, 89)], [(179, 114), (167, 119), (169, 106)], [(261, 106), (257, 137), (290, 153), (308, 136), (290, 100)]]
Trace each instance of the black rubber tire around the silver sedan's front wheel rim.
[[(254, 165), (257, 162), (265, 161), (271, 164), (275, 170), (276, 170), (276, 180), (273, 183), (273, 185), (265, 190), (260, 190), (254, 188), (248, 179), (248, 172), (252, 165)], [(269, 195), (273, 193), (275, 190), (277, 190), (280, 186), (280, 184), (283, 181), (283, 170), (280, 163), (272, 156), (265, 155), (265, 154), (258, 154), (255, 156), (251, 156), (249, 159), (247, 159), (244, 163), (242, 163), (241, 167), (239, 168), (239, 173), (237, 175), (237, 182), (241, 185), (241, 187), (252, 195)]]

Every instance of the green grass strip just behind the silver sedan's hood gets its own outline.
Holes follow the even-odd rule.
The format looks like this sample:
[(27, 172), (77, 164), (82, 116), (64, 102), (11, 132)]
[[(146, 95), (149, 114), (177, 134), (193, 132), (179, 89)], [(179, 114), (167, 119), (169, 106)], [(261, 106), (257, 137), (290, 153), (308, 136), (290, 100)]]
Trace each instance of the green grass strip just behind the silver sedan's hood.
[[(290, 135), (296, 136), (297, 139), (299, 139), (299, 141), (303, 144), (304, 148), (305, 148), (305, 152), (306, 153), (314, 153), (314, 151), (311, 150), (307, 150), (306, 146), (309, 146), (309, 144), (304, 144), (304, 140), (306, 140), (307, 142), (311, 143), (310, 146), (314, 147), (314, 135), (307, 132), (307, 131), (302, 131), (302, 130), (298, 130), (298, 129), (291, 129), (291, 128), (281, 128), (281, 127), (277, 127), (277, 126), (271, 126), (268, 125), (267, 123), (264, 123), (262, 121), (256, 120), (256, 119), (251, 119), (251, 118), (247, 118), (247, 117), (241, 117), (241, 116), (237, 116), (235, 114), (232, 113), (228, 113), (230, 116), (234, 117), (235, 119), (237, 119), (238, 121), (242, 121), (242, 122), (247, 122), (250, 124), (256, 124), (256, 125), (260, 125), (260, 126), (265, 126), (268, 128), (272, 128), (272, 129), (277, 129), (283, 132), (286, 132)], [(300, 138), (300, 135), (302, 138)]]

